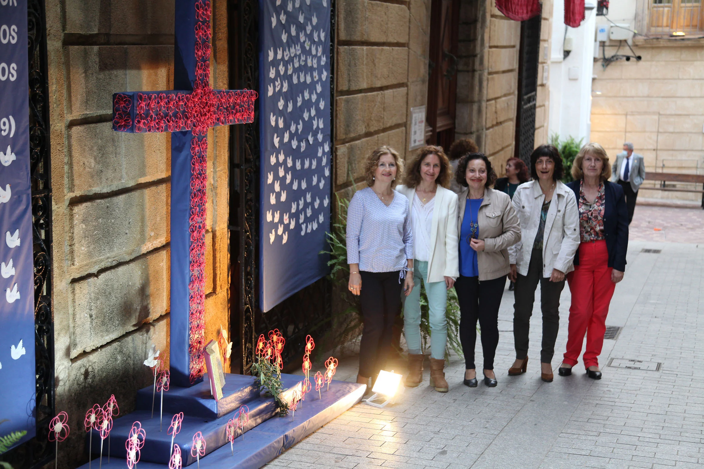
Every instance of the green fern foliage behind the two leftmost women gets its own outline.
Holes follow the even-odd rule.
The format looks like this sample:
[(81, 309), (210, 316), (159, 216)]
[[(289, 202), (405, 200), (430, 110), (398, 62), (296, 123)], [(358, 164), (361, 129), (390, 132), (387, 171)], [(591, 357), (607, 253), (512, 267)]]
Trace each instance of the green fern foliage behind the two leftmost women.
[[(327, 265), (331, 268), (328, 276), (337, 290), (339, 297), (343, 300), (346, 307), (339, 314), (334, 315), (335, 324), (339, 328), (336, 342), (343, 347), (341, 353), (344, 352), (344, 345), (353, 338), (353, 335), (359, 333), (363, 325), (362, 311), (360, 308), (360, 300), (356, 295), (349, 293), (347, 282), (349, 278), (349, 264), (347, 264), (347, 208), (349, 200), (339, 198), (337, 200), (337, 217), (332, 224), (331, 231), (327, 234), (327, 243), (329, 250), (321, 251), (321, 254), (330, 256)], [(417, 287), (420, 285), (416, 285)], [(430, 323), (428, 300), (425, 293), (425, 288), (420, 286), (420, 337), (422, 347), (425, 350), (430, 338)], [(460, 330), (460, 307), (457, 301), (457, 294), (454, 288), (448, 290), (447, 308), (445, 312), (447, 316), (447, 345), (445, 349), (445, 357), (449, 358), (450, 349), (456, 354), (462, 355), (462, 347), (460, 345), (459, 330)]]

